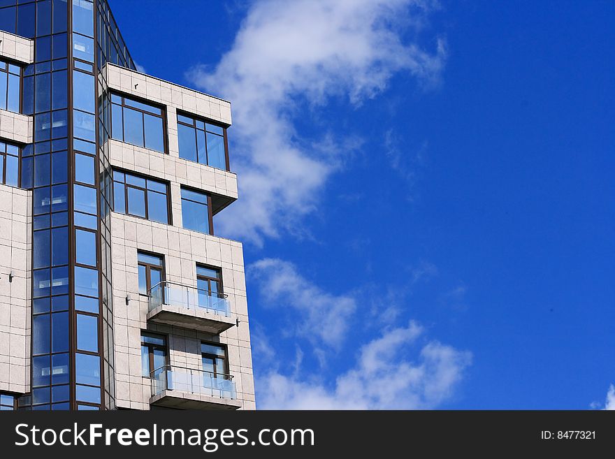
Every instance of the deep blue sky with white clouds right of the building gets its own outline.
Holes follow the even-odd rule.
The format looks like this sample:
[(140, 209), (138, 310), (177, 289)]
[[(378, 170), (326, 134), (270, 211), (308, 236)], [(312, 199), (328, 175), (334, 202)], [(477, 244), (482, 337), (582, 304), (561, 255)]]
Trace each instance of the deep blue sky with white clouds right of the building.
[(615, 3), (110, 5), (233, 103), (259, 407), (615, 407)]

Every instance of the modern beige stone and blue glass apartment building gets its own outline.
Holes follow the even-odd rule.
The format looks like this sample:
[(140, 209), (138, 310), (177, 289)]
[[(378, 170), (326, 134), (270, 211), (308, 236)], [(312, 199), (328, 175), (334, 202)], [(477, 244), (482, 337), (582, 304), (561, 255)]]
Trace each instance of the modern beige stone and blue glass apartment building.
[(106, 0), (0, 0), (0, 409), (254, 409), (229, 102)]

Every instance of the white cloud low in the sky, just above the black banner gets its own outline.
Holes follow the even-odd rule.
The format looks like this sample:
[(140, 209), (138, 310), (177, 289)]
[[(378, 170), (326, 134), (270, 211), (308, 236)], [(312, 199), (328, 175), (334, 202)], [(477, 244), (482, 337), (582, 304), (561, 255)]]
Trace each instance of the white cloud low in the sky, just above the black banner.
[(385, 331), (361, 348), (354, 367), (328, 387), (276, 370), (259, 378), (260, 409), (430, 409), (450, 398), (472, 355), (431, 341), (417, 348), (422, 328)]

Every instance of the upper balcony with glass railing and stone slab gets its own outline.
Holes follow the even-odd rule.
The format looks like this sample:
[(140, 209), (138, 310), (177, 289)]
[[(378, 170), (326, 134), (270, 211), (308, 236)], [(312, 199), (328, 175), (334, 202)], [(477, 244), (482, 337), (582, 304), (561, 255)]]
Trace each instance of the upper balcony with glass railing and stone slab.
[(226, 295), (163, 281), (150, 289), (147, 320), (219, 335), (236, 324)]

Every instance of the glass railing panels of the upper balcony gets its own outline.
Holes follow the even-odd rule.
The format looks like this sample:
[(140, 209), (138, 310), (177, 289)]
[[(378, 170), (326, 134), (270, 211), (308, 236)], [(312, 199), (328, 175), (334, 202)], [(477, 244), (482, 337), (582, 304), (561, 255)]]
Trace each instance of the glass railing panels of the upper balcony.
[(228, 296), (185, 286), (176, 282), (163, 281), (150, 289), (150, 311), (161, 305), (178, 306), (184, 309), (203, 309), (220, 316), (229, 317), (231, 307)]

